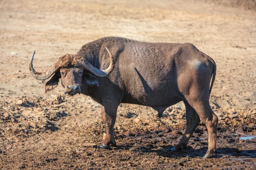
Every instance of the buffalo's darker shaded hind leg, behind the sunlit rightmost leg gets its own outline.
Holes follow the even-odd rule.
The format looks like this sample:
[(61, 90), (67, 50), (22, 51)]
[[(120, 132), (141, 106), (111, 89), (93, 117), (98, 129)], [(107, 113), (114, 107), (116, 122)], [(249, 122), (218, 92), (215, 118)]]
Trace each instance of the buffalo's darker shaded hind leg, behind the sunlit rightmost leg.
[(180, 139), (180, 142), (172, 148), (172, 150), (174, 151), (181, 151), (182, 149), (186, 148), (186, 145), (189, 142), (192, 133), (195, 131), (195, 128), (200, 123), (200, 118), (195, 112), (195, 109), (193, 109), (188, 102), (184, 101), (184, 104), (186, 107), (186, 131)]

